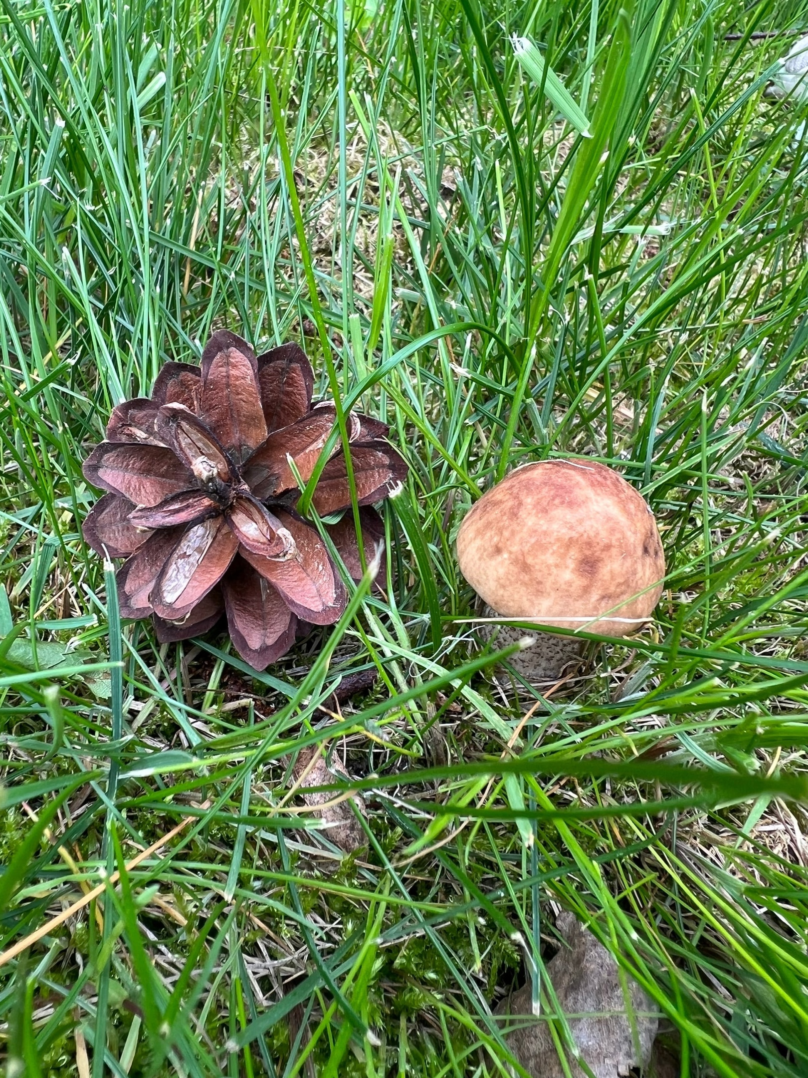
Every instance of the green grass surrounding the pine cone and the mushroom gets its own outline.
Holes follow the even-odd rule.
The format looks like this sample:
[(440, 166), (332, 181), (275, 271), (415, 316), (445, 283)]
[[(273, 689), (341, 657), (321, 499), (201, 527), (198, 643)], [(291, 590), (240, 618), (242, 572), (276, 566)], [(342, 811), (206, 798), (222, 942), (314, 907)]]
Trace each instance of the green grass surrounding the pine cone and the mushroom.
[[(682, 1078), (808, 1073), (808, 147), (762, 96), (806, 27), (791, 0), (3, 0), (0, 946), (108, 881), (0, 966), (10, 1075), (505, 1075), (492, 1011), (531, 968), (543, 993), (551, 902)], [(305, 319), (320, 390), (391, 423), (412, 481), (385, 597), (251, 678), (221, 634), (121, 628), (81, 462), (211, 327)], [(669, 577), (546, 696), (479, 658), (454, 537), (553, 454), (642, 490)], [(342, 862), (281, 804), (315, 742), (365, 789)]]

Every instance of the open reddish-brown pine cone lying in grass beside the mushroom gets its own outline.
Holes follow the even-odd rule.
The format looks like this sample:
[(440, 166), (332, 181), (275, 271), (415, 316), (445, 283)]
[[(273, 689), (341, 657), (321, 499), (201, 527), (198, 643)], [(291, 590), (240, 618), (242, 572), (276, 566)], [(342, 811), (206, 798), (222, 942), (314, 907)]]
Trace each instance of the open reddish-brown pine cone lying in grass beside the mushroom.
[[(117, 571), (124, 618), (154, 617), (159, 640), (211, 628), (226, 611), (236, 650), (264, 669), (292, 646), (298, 622), (330, 625), (346, 590), (317, 530), (295, 512), (299, 490), (334, 428), (333, 404), (311, 405), (311, 365), (296, 344), (257, 359), (235, 333), (214, 333), (201, 365), (166, 363), (151, 399), (114, 409), (107, 440), (84, 475), (109, 490), (84, 522), (99, 554), (125, 557)], [(396, 494), (407, 466), (382, 439), (385, 424), (347, 417), (357, 500)], [(340, 442), (311, 503), (353, 579), (361, 576)], [(382, 544), (373, 509), (360, 510), (367, 561)]]

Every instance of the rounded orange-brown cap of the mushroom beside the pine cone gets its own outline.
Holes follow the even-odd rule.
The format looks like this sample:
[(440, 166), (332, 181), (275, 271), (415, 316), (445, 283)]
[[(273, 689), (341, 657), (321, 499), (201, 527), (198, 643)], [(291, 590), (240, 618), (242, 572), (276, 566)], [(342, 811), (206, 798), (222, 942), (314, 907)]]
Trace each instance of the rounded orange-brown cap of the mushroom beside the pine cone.
[(460, 569), (501, 617), (605, 636), (647, 620), (665, 555), (651, 509), (595, 460), (517, 468), (465, 516)]

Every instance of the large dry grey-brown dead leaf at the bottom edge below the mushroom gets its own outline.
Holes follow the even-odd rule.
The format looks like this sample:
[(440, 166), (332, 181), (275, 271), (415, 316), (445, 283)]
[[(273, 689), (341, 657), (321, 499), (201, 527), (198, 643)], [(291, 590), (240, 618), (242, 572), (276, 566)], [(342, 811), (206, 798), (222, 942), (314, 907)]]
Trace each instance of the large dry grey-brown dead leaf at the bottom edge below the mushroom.
[[(644, 1067), (651, 1056), (658, 1020), (649, 1018), (656, 1009), (636, 981), (626, 978), (633, 1011), (636, 1041), (626, 1013), (618, 966), (607, 949), (572, 913), (560, 913), (557, 927), (569, 944), (547, 963), (559, 1006), (568, 1018), (572, 1036), (595, 1078), (625, 1078), (632, 1067)], [(531, 1014), (530, 984), (515, 992), (498, 1013)], [(563, 1078), (549, 1024), (545, 1018), (527, 1022), (505, 1037), (509, 1048), (533, 1078)], [(573, 1078), (585, 1072), (569, 1059)]]

